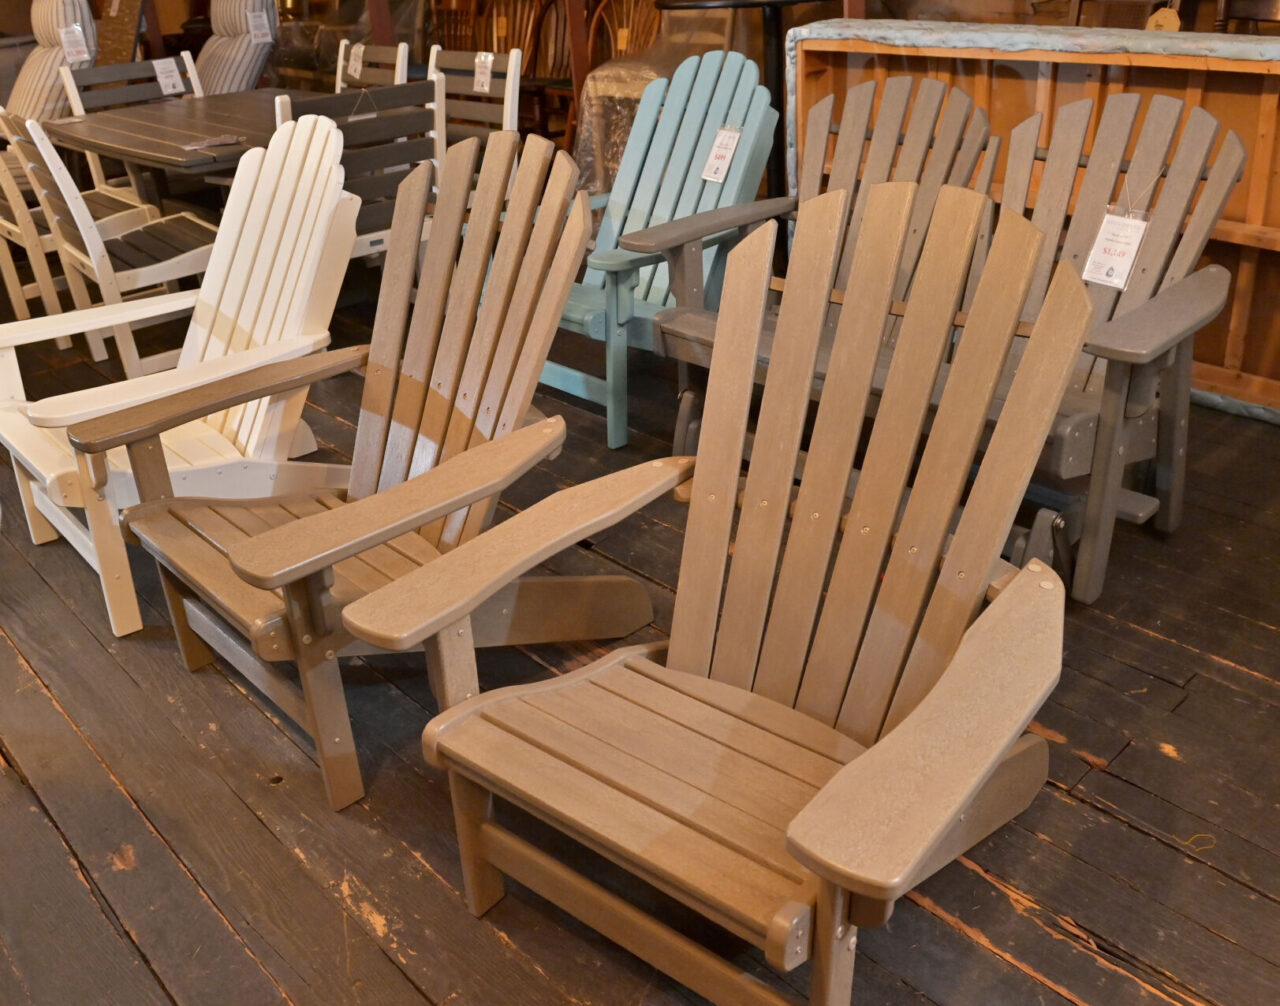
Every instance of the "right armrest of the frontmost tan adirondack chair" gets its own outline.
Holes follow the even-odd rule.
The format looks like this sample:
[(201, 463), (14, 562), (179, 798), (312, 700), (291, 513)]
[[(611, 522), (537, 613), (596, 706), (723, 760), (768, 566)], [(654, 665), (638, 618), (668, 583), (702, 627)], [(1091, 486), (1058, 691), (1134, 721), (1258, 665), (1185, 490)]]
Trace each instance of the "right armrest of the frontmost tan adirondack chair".
[(931, 852), (1057, 683), (1064, 602), (1052, 571), (1023, 570), (969, 627), (924, 700), (796, 814), (791, 855), (877, 901), (923, 881)]

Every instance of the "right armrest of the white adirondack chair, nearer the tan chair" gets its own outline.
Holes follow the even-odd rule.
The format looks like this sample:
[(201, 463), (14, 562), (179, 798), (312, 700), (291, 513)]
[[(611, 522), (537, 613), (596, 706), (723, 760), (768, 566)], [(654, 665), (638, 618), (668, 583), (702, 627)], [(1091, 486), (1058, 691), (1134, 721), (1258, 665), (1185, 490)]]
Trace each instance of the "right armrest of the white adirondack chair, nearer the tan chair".
[(292, 360), (314, 353), (323, 349), (328, 342), (329, 333), (282, 339), (271, 346), (259, 346), (216, 360), (204, 360), (177, 370), (145, 374), (141, 378), (131, 378), (115, 384), (83, 388), (78, 392), (41, 398), (28, 406), (27, 419), (33, 426), (59, 429), (87, 422), (99, 416), (165, 399), (234, 374), (256, 370), (276, 360)]

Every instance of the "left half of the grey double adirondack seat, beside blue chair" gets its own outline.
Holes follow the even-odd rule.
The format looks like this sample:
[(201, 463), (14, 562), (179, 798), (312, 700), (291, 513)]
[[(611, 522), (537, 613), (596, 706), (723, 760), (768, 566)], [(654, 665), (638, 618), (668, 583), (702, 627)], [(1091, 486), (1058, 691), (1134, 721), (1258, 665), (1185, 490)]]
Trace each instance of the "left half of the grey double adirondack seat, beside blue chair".
[[(710, 362), (716, 335), (716, 312), (703, 302), (703, 259), (708, 246), (736, 238), (768, 219), (791, 219), (796, 206), (805, 200), (823, 191), (844, 189), (851, 198), (847, 204), (849, 238), (836, 270), (835, 287), (844, 291), (870, 187), (887, 180), (919, 182), (911, 227), (893, 287), (895, 298), (901, 299), (915, 273), (941, 187), (972, 186), (983, 193), (991, 187), (1000, 140), (991, 137), (986, 113), (975, 109), (973, 99), (960, 88), (947, 88), (941, 81), (929, 78), (922, 79), (919, 87), (914, 83), (914, 77), (890, 77), (878, 109), (876, 81), (849, 88), (838, 125), (833, 119), (835, 95), (817, 102), (809, 110), (795, 196), (716, 209), (625, 234), (620, 239), (623, 248), (637, 255), (654, 260), (662, 256), (671, 270), (671, 288), (677, 306), (654, 315), (653, 331), (655, 349), (682, 365), (676, 453), (694, 449), (701, 415), (699, 392), (689, 381), (687, 365), (705, 367)], [(832, 133), (836, 134), (833, 152)], [(867, 142), (868, 136), (870, 142)], [(986, 244), (984, 238), (989, 238), (989, 220), (983, 221), (983, 232), (979, 248)], [(767, 363), (772, 355), (776, 321), (774, 306), (765, 321), (762, 363)]]

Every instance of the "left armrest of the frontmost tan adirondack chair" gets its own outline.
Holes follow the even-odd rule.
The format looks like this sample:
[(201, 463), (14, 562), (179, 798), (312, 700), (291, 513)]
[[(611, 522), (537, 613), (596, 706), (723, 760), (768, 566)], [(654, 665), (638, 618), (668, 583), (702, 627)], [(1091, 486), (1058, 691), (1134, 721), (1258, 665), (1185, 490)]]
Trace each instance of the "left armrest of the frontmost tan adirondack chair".
[(664, 458), (563, 489), (348, 604), (343, 625), (383, 649), (416, 646), (521, 573), (634, 513), (692, 472), (692, 458)]

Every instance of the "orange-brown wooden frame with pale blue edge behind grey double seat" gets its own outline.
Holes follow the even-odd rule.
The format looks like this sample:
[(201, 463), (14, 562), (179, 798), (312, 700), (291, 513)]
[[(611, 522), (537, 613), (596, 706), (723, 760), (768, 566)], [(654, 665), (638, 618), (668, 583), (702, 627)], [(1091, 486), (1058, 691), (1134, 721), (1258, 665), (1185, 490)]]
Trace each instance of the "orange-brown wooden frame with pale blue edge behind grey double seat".
[[(1094, 100), (1094, 128), (1101, 105), (1119, 91), (1172, 95), (1213, 113), (1239, 133), (1249, 156), (1206, 252), (1231, 270), (1234, 285), (1228, 310), (1196, 339), (1194, 381), (1280, 407), (1280, 42), (1187, 32), (828, 20), (794, 29), (787, 52), (792, 177), (813, 104), (835, 93), (838, 110), (849, 87), (890, 74), (963, 87), (987, 111), (996, 136), (1007, 137), (1042, 111), (1042, 143), (1053, 111), (1082, 97)], [(997, 198), (1002, 177), (1000, 163)]]

